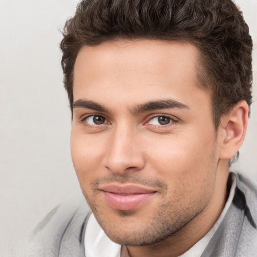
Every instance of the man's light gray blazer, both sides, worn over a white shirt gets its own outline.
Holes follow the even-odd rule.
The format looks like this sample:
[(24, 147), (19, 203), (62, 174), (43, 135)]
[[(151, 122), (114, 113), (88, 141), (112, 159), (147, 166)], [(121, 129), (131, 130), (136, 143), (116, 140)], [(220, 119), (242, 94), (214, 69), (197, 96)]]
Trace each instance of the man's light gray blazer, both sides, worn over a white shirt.
[[(257, 182), (237, 174), (236, 183), (233, 201), (202, 257), (257, 256)], [(16, 247), (17, 256), (85, 257), (84, 235), (90, 214), (85, 201), (57, 206), (26, 242)]]

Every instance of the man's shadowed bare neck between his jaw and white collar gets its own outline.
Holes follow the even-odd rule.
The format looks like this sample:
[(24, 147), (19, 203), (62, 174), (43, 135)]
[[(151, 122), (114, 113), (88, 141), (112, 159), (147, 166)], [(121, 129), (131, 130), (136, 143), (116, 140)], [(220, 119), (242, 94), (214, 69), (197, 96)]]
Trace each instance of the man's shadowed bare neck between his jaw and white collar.
[(163, 241), (144, 246), (127, 246), (131, 257), (175, 257), (183, 254), (212, 228), (227, 199), (228, 162), (220, 160), (209, 204), (182, 229)]

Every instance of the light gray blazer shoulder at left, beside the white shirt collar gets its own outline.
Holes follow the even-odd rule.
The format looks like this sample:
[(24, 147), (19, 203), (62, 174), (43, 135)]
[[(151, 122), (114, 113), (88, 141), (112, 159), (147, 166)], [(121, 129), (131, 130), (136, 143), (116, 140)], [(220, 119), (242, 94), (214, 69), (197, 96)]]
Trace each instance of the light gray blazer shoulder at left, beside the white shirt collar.
[(28, 238), (15, 245), (14, 255), (17, 252), (19, 257), (84, 256), (82, 236), (90, 214), (89, 206), (81, 198), (56, 206)]

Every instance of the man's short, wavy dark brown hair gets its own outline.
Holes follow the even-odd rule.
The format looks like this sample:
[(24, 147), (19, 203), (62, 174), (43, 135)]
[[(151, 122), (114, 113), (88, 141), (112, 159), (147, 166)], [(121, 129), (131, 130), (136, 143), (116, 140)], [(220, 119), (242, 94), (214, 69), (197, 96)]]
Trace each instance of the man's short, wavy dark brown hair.
[(119, 39), (183, 40), (199, 52), (198, 78), (220, 117), (240, 100), (252, 101), (252, 40), (231, 0), (84, 0), (68, 19), (60, 44), (64, 85), (73, 109), (73, 69), (83, 45)]

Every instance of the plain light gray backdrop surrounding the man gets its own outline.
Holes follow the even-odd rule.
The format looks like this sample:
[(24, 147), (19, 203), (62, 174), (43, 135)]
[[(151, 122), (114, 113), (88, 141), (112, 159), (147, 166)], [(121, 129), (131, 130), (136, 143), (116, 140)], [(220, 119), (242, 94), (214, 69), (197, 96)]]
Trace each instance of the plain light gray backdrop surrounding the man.
[[(0, 0), (0, 256), (58, 203), (80, 193), (58, 28), (77, 0)], [(257, 179), (257, 0), (237, 0), (254, 41), (252, 114), (233, 169)]]

